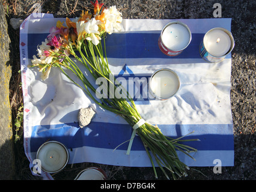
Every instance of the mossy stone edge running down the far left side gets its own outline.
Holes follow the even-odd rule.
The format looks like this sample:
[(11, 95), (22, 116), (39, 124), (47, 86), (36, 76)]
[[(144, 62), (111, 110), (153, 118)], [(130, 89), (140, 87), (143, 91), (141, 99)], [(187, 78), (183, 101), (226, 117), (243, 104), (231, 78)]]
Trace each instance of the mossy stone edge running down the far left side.
[(13, 179), (15, 170), (9, 99), (9, 44), (5, 11), (0, 4), (0, 179)]

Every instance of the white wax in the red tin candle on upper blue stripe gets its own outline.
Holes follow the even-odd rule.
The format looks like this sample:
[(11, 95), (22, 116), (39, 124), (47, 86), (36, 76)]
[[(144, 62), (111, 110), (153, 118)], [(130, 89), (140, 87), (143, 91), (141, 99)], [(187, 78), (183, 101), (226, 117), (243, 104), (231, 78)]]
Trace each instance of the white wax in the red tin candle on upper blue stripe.
[(190, 33), (183, 25), (171, 24), (163, 30), (162, 41), (170, 50), (182, 50), (189, 44)]

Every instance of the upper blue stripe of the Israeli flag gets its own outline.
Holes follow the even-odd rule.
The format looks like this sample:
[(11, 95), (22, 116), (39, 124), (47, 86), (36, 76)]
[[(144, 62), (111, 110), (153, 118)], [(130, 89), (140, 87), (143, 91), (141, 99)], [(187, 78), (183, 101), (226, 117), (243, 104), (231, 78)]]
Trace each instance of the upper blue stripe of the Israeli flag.
[[(160, 34), (160, 32), (159, 32)], [(158, 33), (124, 33), (111, 34), (106, 38), (108, 58), (201, 58), (199, 46), (204, 34), (192, 34), (189, 46), (175, 57), (163, 54), (157, 44)], [(28, 34), (28, 58), (37, 55), (37, 46), (48, 34)]]

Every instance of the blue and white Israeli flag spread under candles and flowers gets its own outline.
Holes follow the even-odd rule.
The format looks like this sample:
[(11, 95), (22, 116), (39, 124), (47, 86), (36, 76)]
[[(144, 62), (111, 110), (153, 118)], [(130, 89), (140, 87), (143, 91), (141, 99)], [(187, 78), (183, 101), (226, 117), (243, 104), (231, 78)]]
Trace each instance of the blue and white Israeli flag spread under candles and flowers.
[[(28, 67), (32, 56), (37, 54), (37, 45), (44, 41), (58, 20), (65, 19), (55, 19), (52, 14), (31, 15), (20, 26), (24, 148), (29, 161), (32, 164), (37, 149), (44, 142), (57, 140), (69, 149), (69, 164), (94, 162), (150, 167), (150, 160), (138, 136), (133, 140), (130, 155), (126, 155), (129, 145), (126, 141), (133, 130), (124, 119), (97, 106), (58, 68), (52, 68), (49, 78), (42, 81), (40, 72)], [(216, 160), (220, 160), (222, 166), (233, 166), (231, 54), (222, 62), (209, 63), (201, 58), (199, 52), (204, 34), (216, 27), (231, 31), (231, 19), (177, 19), (189, 27), (192, 41), (180, 55), (173, 57), (163, 54), (157, 44), (163, 26), (171, 21), (174, 20), (124, 19), (124, 31), (106, 37), (109, 67), (116, 78), (127, 80), (137, 77), (146, 83), (159, 68), (175, 71), (181, 86), (177, 94), (168, 100), (142, 97), (144, 92), (148, 93), (148, 86), (143, 86), (143, 81), (137, 85), (127, 84), (127, 87), (135, 86), (132, 89), (134, 94), (139, 92), (141, 96), (135, 98), (135, 102), (142, 118), (172, 138), (194, 131), (186, 139), (200, 141), (186, 142), (186, 145), (198, 149), (191, 154), (195, 160), (178, 153), (187, 166), (215, 166)], [(78, 112), (85, 107), (92, 107), (96, 116), (89, 125), (80, 128)]]

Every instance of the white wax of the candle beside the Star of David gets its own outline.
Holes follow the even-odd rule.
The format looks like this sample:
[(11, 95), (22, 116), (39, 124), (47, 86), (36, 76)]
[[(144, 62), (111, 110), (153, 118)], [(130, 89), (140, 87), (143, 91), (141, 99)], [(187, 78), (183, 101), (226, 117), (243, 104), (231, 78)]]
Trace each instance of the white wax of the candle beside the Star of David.
[(151, 78), (150, 88), (159, 98), (169, 98), (180, 86), (178, 77), (169, 70), (160, 70)]

